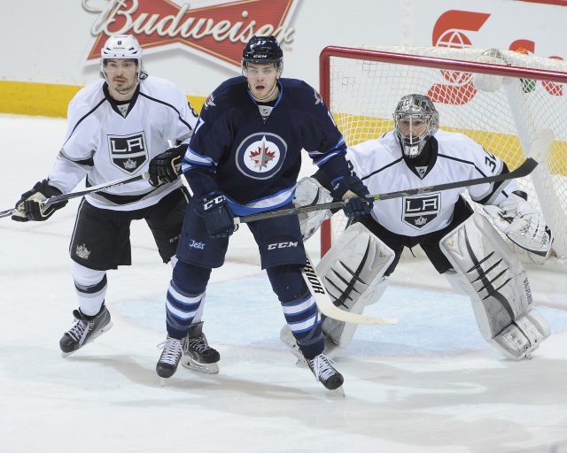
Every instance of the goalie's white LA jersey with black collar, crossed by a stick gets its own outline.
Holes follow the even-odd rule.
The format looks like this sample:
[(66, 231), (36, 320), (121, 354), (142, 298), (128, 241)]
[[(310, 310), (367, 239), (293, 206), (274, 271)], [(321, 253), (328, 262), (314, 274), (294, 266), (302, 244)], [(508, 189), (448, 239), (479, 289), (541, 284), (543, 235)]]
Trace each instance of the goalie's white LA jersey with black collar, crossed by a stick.
[[(346, 157), (372, 195), (493, 176), (501, 174), (504, 168), (499, 157), (466, 135), (439, 131), (434, 137), (439, 145), (436, 161), (430, 165), (429, 173), (423, 169), (423, 179), (409, 169), (393, 131), (380, 139), (350, 147)], [(517, 190), (517, 183), (506, 180), (378, 201), (374, 203), (372, 217), (396, 234), (428, 234), (449, 225), (454, 205), (465, 190), (476, 202), (497, 204)]]

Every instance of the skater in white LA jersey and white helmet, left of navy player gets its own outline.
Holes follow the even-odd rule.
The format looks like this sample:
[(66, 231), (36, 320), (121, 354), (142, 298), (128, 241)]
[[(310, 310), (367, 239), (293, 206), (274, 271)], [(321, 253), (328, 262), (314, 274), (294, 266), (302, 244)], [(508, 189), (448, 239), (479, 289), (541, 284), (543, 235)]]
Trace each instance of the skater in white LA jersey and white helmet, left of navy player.
[[(138, 180), (81, 201), (70, 246), (80, 308), (59, 342), (64, 356), (112, 326), (105, 307), (106, 271), (131, 264), (130, 222), (145, 219), (167, 263), (175, 257), (189, 200), (181, 180), (155, 172), (159, 159), (178, 155), (180, 160), (185, 153), (197, 122), (186, 97), (170, 81), (144, 72), (142, 49), (132, 35), (105, 42), (101, 76), (74, 96), (53, 169), (21, 196), (12, 215), (17, 221), (46, 220), (66, 202), (41, 202), (70, 192), (85, 177), (87, 186), (95, 186), (150, 170), (152, 185)], [(168, 150), (168, 142), (177, 146)]]

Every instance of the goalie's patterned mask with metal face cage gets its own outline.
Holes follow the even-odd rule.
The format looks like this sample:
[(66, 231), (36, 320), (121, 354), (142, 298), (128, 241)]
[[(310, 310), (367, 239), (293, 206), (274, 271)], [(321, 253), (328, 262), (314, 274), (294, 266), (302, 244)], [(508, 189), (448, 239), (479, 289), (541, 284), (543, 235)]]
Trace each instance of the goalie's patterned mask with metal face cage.
[(439, 129), (439, 111), (423, 95), (403, 96), (393, 114), (394, 125), (405, 157), (418, 157), (429, 138)]

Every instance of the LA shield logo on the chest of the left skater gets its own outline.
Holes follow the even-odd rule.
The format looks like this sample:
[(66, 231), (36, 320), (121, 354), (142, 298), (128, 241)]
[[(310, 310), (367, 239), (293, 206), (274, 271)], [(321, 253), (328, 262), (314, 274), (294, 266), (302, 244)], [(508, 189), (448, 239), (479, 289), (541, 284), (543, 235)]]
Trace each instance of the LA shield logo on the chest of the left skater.
[(108, 135), (108, 151), (114, 166), (126, 173), (136, 173), (148, 160), (144, 131), (129, 135)]

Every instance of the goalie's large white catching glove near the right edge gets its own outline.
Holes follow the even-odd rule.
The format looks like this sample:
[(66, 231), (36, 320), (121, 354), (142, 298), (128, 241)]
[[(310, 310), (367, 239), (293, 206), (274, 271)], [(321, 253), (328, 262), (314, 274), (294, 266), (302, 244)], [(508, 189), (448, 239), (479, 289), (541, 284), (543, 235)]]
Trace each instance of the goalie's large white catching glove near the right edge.
[(487, 205), (484, 209), (494, 225), (518, 247), (540, 257), (549, 255), (553, 235), (532, 203), (511, 194), (498, 206)]

